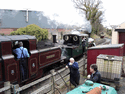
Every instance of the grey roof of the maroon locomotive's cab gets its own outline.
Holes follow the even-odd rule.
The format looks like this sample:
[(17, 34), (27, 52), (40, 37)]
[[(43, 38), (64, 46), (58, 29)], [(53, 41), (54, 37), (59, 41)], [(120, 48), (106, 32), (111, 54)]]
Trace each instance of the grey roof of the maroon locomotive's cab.
[(36, 39), (36, 37), (30, 35), (0, 36), (0, 41), (16, 41), (16, 40), (29, 40), (29, 39)]

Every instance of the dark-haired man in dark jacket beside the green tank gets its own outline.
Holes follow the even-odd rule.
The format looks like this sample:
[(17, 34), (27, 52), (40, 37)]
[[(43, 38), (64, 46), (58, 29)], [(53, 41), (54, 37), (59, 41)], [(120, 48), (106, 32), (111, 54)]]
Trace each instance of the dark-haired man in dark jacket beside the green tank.
[(97, 65), (96, 64), (92, 64), (90, 66), (90, 72), (92, 73), (91, 75), (87, 76), (87, 79), (96, 82), (96, 83), (100, 83), (101, 82), (101, 74), (99, 73), (99, 71), (97, 70)]

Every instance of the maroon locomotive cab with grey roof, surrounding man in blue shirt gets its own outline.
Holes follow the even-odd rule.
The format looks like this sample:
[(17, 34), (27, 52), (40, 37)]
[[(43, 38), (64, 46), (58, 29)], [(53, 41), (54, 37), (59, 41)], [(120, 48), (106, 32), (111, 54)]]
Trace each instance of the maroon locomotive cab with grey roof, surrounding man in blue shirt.
[[(27, 62), (27, 76), (36, 75), (38, 72), (38, 51), (36, 50), (36, 38), (29, 35), (14, 35), (0, 37), (0, 81), (10, 81), (11, 83), (21, 83), (21, 70), (19, 61), (13, 50), (18, 48), (18, 42), (23, 42), (23, 47), (27, 48), (30, 58)], [(5, 75), (6, 74), (6, 75)], [(27, 79), (28, 79), (27, 78)]]

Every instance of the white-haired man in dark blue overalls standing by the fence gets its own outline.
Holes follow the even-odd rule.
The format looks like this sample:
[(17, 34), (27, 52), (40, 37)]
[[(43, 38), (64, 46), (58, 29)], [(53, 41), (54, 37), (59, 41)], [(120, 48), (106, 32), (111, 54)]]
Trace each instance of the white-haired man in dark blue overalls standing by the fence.
[(77, 87), (80, 79), (78, 63), (75, 62), (74, 58), (70, 58), (70, 62), (66, 65), (66, 68), (70, 69), (70, 82)]

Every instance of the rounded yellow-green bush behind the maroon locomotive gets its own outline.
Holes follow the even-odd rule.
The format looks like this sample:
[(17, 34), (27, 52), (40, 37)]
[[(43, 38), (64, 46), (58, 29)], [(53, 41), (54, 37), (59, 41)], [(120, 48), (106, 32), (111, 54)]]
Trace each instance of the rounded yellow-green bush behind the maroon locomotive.
[(10, 35), (33, 35), (38, 41), (48, 39), (48, 30), (42, 29), (35, 24), (28, 25), (24, 28), (19, 28), (11, 32)]

